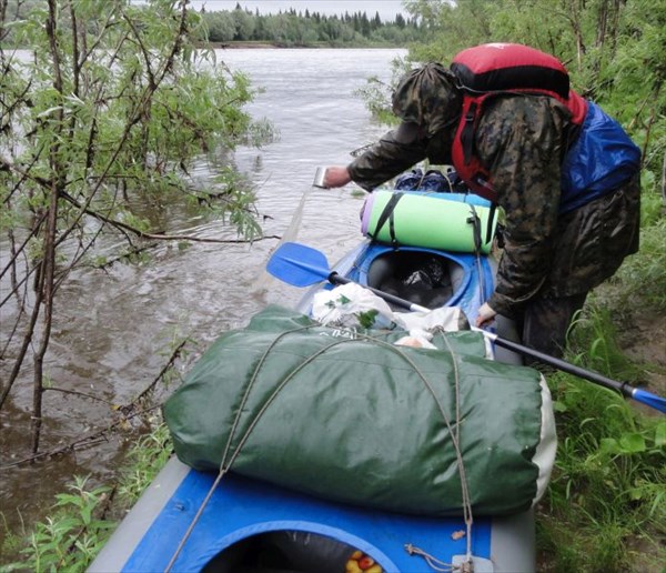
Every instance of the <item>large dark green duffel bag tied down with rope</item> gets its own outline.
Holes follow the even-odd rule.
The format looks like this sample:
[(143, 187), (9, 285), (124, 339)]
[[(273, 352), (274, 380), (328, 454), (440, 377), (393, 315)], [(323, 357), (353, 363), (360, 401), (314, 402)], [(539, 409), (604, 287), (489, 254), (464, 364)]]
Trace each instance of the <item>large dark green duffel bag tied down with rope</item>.
[(167, 401), (178, 458), (402, 513), (531, 507), (555, 456), (543, 378), (485, 359), (476, 332), (440, 334), (444, 350), (392, 344), (401, 334), (269, 306), (220, 336)]

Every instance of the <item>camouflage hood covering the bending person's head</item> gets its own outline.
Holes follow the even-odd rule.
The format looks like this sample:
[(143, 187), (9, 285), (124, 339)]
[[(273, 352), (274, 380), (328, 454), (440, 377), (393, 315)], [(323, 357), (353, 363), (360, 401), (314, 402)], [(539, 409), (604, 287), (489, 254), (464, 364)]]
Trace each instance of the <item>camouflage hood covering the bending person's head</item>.
[(457, 121), (462, 101), (453, 72), (440, 63), (427, 63), (400, 81), (393, 93), (393, 113), (432, 137)]

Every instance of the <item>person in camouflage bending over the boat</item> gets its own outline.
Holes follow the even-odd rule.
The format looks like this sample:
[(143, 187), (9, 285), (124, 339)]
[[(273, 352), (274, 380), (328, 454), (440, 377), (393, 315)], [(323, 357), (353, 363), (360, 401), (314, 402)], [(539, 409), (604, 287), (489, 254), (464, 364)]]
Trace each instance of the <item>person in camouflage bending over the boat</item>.
[(588, 292), (638, 250), (640, 151), (598, 105), (569, 90), (554, 57), (483, 44), (450, 68), (427, 63), (393, 93), (402, 120), (324, 187), (366, 191), (415, 163), (453, 164), (505, 213), (495, 290), (476, 325), (513, 319), (523, 342), (562, 356)]

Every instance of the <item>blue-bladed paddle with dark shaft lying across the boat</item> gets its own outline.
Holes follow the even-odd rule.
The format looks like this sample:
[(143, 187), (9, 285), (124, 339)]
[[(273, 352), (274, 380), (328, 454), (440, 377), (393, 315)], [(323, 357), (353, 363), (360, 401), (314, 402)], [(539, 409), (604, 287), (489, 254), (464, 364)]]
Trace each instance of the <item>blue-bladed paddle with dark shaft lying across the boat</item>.
[[(347, 284), (354, 282), (346, 277), (341, 277), (335, 271), (331, 271), (329, 261), (324, 253), (299, 243), (284, 243), (282, 244), (271, 257), (266, 265), (266, 270), (276, 279), (286, 282), (293, 286), (310, 286), (321, 281), (329, 281), (332, 284)], [(372, 286), (365, 286), (370, 291), (374, 292), (377, 296), (384, 299), (386, 302), (393, 303), (396, 306), (402, 306), (411, 311), (430, 312), (431, 309), (414, 304), (405, 299), (395, 296), (387, 292), (373, 289)], [(627, 398), (632, 398), (637, 402), (642, 402), (659, 412), (666, 412), (666, 400), (657, 394), (653, 394), (639, 388), (634, 388), (626, 382), (617, 382), (596, 372), (582, 369), (564, 360), (556, 359), (548, 354), (544, 354), (538, 350), (524, 346), (517, 342), (503, 339), (487, 332), (482, 329), (472, 328), (472, 330), (481, 332), (485, 338), (505, 349), (517, 352), (525, 356), (531, 356), (544, 364), (555, 366), (557, 370), (567, 372), (575, 376), (582, 378), (595, 384), (608, 388), (610, 390), (617, 390), (620, 394)]]

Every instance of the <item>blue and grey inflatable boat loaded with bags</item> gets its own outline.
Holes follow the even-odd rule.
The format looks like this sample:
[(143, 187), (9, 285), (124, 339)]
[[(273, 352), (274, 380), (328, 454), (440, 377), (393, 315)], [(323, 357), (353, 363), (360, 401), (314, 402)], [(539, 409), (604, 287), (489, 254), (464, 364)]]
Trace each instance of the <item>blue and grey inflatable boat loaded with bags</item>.
[[(483, 204), (468, 211), (472, 223), (478, 208)], [(410, 209), (414, 215), (415, 208)], [(366, 234), (367, 225), (377, 227), (369, 221), (370, 215)], [(492, 258), (478, 248), (480, 229), (471, 224), (476, 247), (463, 252), (406, 244), (397, 219), (393, 223), (393, 239), (364, 240), (325, 274), (331, 271), (425, 308), (458, 306), (473, 321), (493, 290), (494, 275)], [(410, 225), (413, 230), (417, 223)], [(303, 313), (310, 312), (316, 292), (332, 288), (321, 279), (303, 298)], [(503, 335), (513, 334), (507, 330)], [(507, 352), (495, 360), (519, 361)], [(219, 483), (215, 478), (173, 458), (89, 571), (535, 571), (532, 510), (497, 517), (424, 517), (333, 503), (233, 473)]]

